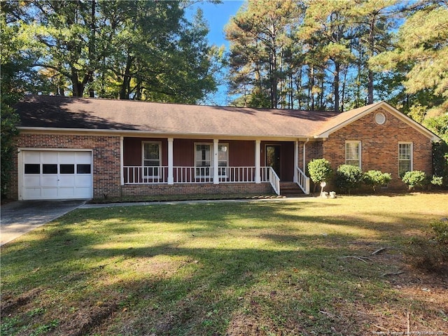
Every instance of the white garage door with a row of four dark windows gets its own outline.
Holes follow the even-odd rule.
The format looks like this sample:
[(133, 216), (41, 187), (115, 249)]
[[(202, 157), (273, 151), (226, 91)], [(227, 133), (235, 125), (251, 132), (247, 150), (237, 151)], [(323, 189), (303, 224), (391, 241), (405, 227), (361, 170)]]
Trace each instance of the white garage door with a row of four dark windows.
[(22, 200), (92, 198), (92, 153), (22, 151)]

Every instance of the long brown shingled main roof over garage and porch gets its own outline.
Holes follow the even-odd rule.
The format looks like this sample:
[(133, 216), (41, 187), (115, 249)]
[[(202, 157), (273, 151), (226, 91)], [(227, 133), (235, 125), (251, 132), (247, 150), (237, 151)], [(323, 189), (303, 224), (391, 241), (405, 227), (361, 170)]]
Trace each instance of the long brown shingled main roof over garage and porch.
[(241, 137), (312, 137), (340, 114), (57, 96), (29, 96), (15, 107), (20, 127)]

